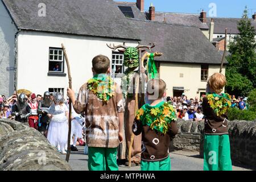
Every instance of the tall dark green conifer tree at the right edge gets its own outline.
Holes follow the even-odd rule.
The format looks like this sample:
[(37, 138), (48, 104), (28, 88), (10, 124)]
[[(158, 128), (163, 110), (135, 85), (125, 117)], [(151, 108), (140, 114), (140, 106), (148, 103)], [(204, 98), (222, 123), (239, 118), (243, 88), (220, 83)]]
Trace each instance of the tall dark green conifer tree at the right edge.
[(230, 94), (245, 96), (251, 89), (256, 88), (255, 28), (251, 26), (247, 8), (243, 11), (237, 29), (240, 33), (229, 44), (226, 89)]

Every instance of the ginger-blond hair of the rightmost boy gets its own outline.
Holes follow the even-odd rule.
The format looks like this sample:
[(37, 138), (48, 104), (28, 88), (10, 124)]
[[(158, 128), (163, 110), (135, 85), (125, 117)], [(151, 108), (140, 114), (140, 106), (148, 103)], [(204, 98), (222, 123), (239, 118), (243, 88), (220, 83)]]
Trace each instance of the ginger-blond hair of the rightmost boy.
[(209, 77), (207, 82), (212, 92), (221, 93), (222, 89), (226, 85), (226, 77), (221, 73), (214, 73)]

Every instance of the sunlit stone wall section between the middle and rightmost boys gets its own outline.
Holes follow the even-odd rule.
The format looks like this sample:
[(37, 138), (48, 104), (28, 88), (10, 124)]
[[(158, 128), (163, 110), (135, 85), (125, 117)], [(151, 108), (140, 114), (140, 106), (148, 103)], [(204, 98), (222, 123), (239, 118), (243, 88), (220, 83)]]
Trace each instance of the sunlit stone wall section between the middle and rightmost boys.
[(170, 151), (200, 151), (200, 135), (201, 130), (204, 129), (204, 122), (196, 122), (191, 120), (184, 121), (182, 119), (178, 119), (176, 123), (179, 131), (172, 141)]

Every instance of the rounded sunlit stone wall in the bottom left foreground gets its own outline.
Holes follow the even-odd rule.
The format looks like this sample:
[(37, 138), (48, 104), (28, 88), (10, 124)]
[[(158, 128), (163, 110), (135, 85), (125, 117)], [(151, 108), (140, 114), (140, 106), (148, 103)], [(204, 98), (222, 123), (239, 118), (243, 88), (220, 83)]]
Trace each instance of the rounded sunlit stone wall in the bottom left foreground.
[(0, 171), (69, 171), (69, 164), (35, 129), (0, 119)]

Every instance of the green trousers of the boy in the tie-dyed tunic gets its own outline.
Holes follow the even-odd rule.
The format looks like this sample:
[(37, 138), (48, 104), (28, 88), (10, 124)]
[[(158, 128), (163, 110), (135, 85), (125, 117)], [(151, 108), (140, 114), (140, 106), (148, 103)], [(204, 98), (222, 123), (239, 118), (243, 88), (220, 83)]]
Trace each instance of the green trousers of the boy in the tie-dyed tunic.
[(118, 171), (117, 148), (88, 147), (89, 171)]

